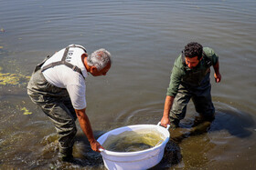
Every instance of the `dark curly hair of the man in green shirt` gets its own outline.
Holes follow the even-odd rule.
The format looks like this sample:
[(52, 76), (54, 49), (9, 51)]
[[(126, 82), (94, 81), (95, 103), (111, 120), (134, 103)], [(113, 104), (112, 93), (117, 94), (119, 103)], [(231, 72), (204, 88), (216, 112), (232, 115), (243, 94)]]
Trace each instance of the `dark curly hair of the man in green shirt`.
[(189, 58), (193, 58), (197, 56), (199, 60), (202, 57), (202, 53), (203, 53), (203, 46), (196, 42), (188, 43), (184, 48), (184, 55)]

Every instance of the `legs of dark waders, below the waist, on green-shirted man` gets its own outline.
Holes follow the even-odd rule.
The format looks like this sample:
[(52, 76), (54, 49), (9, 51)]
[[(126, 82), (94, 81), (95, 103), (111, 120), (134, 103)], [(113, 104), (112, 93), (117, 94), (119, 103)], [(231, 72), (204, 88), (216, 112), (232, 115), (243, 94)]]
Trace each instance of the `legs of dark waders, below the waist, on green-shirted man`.
[(190, 99), (192, 99), (199, 115), (202, 115), (206, 119), (212, 119), (215, 113), (215, 108), (212, 104), (210, 90), (209, 73), (202, 85), (179, 85), (178, 92), (170, 111), (171, 125), (177, 126), (179, 121), (184, 119), (187, 111), (187, 104)]

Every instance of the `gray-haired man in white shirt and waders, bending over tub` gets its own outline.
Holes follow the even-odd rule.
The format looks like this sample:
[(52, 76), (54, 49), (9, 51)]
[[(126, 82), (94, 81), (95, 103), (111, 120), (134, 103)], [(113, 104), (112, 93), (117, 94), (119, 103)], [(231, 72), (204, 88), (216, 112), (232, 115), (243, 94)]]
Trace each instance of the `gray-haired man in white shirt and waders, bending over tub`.
[(55, 126), (59, 135), (59, 157), (73, 160), (72, 147), (77, 133), (78, 118), (91, 149), (99, 152), (102, 146), (92, 134), (86, 115), (85, 78), (106, 75), (111, 68), (111, 54), (99, 49), (87, 55), (81, 45), (69, 45), (38, 64), (27, 85), (27, 94), (40, 106)]

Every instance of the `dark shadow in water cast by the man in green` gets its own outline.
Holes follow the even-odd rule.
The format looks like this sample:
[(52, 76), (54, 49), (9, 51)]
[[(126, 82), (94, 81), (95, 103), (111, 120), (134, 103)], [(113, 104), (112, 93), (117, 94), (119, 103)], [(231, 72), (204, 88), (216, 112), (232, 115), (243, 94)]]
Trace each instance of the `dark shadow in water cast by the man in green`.
[(254, 126), (253, 117), (247, 113), (220, 110), (215, 113), (212, 120), (205, 120), (204, 117), (196, 116), (193, 123), (180, 124), (180, 127), (171, 129), (170, 134), (176, 143), (180, 143), (192, 135), (202, 135), (221, 130), (228, 131), (230, 135), (245, 138), (252, 134), (250, 129), (253, 129)]

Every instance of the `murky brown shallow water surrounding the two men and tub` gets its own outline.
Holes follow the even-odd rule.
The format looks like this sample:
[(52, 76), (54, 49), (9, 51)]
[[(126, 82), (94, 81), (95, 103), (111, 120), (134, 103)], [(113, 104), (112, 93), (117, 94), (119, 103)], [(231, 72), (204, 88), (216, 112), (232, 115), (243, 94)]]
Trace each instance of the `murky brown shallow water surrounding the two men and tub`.
[(112, 53), (108, 75), (87, 78), (87, 114), (98, 138), (160, 121), (172, 65), (191, 41), (219, 55), (220, 84), (211, 73), (216, 118), (197, 125), (189, 103), (154, 168), (255, 169), (255, 8), (254, 0), (1, 2), (0, 169), (104, 169), (81, 130), (74, 146), (81, 164), (58, 161), (56, 131), (26, 90), (46, 55), (73, 43)]

